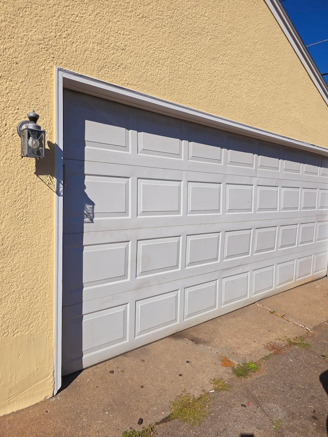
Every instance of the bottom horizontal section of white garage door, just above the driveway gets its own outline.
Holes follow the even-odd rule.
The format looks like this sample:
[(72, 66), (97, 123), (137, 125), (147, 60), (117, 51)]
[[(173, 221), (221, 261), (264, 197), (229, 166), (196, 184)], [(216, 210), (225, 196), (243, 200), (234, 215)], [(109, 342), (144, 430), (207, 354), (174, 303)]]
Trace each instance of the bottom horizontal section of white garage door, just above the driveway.
[[(311, 258), (312, 255), (308, 255), (308, 257)], [(306, 258), (307, 257), (304, 256), (300, 258), (300, 260), (303, 261)], [(326, 262), (327, 259), (327, 253), (323, 252), (316, 254), (315, 258), (318, 259), (317, 269), (322, 269), (323, 263)], [(165, 302), (165, 315), (159, 320), (161, 323), (158, 323), (157, 325), (154, 324), (155, 322), (147, 319), (141, 323), (139, 318), (136, 318), (137, 322), (132, 329), (131, 323), (133, 319), (130, 318), (131, 322), (128, 322), (130, 325), (127, 326), (122, 322), (124, 318), (121, 316), (118, 327), (127, 326), (125, 328), (126, 330), (123, 328), (118, 329), (116, 327), (117, 320), (115, 319), (115, 329), (108, 329), (109, 332), (113, 331), (110, 334), (111, 337), (109, 337), (109, 342), (107, 342), (108, 337), (105, 336), (102, 339), (100, 336), (100, 338), (97, 338), (98, 345), (95, 346), (95, 343), (93, 342), (91, 343), (93, 344), (93, 347), (84, 350), (84, 352), (82, 352), (83, 349), (79, 350), (78, 341), (75, 341), (75, 348), (72, 346), (72, 344), (69, 344), (67, 348), (70, 350), (70, 361), (64, 365), (65, 373), (75, 371), (78, 368), (81, 368), (81, 365), (86, 367), (99, 361), (106, 360), (119, 353), (130, 350), (131, 347), (138, 347), (145, 343), (145, 339), (147, 339), (147, 342), (154, 341), (163, 337), (163, 335), (173, 334), (173, 332), (185, 329), (195, 323), (200, 323), (201, 321), (209, 320), (214, 316), (216, 317), (220, 314), (227, 313), (232, 309), (237, 309), (244, 305), (247, 296), (250, 297), (250, 301), (257, 300), (259, 296), (260, 298), (270, 296), (273, 292), (275, 292), (271, 288), (272, 275), (275, 270), (277, 272), (276, 281), (280, 281), (279, 289), (288, 289), (288, 287), (290, 287), (290, 277), (291, 275), (294, 275), (296, 258), (290, 259), (290, 256), (284, 256), (281, 258), (281, 260), (283, 262), (279, 263), (279, 268), (274, 264), (268, 265), (268, 260), (262, 260), (259, 263), (250, 264), (249, 271), (247, 272), (242, 272), (244, 267), (239, 265), (234, 268), (228, 268), (219, 272), (203, 275), (203, 282), (201, 283), (198, 276), (187, 278), (187, 280), (183, 279), (175, 281), (174, 285), (180, 287), (176, 290), (172, 290), (172, 283), (162, 284), (160, 287), (158, 287), (158, 285), (154, 287), (147, 287), (137, 290), (138, 298), (136, 298), (136, 300), (134, 300), (134, 296), (136, 296), (135, 292), (132, 291), (124, 295), (112, 296), (110, 299), (106, 297), (100, 299), (98, 302), (94, 300), (89, 303), (85, 302), (83, 304), (83, 311), (80, 309), (81, 305), (67, 307), (67, 311), (71, 311), (73, 315), (75, 314), (75, 320), (74, 317), (67, 316), (68, 320), (73, 318), (73, 322), (75, 323), (75, 335), (77, 336), (75, 339), (78, 338), (78, 336), (81, 338), (86, 336), (89, 341), (90, 336), (92, 338), (92, 333), (89, 333), (90, 323), (98, 323), (97, 317), (100, 317), (99, 321), (105, 320), (107, 315), (107, 306), (114, 305), (114, 308), (111, 308), (110, 311), (114, 310), (114, 313), (118, 312), (120, 315), (125, 314), (126, 305), (130, 305), (135, 308), (136, 312), (139, 310), (140, 314), (142, 315), (142, 309), (145, 310), (144, 314), (149, 313), (149, 311), (147, 311), (148, 304), (151, 305), (154, 303), (154, 305), (156, 305), (161, 302), (161, 300), (167, 299)], [(267, 264), (267, 267), (261, 267), (265, 264)], [(262, 277), (259, 275), (261, 270)], [(251, 279), (251, 275), (253, 279)], [(263, 278), (267, 279), (264, 280)], [(295, 282), (294, 286), (296, 286), (298, 283), (304, 282), (305, 279), (301, 277), (300, 280)], [(170, 288), (172, 291), (170, 291)], [(254, 293), (253, 290), (256, 290), (257, 293)], [(199, 306), (198, 304), (197, 307), (198, 298), (201, 301), (201, 305)], [(179, 299), (178, 309), (176, 309), (177, 299)], [(129, 302), (129, 304), (125, 302)], [(145, 307), (141, 310), (137, 309), (137, 305), (140, 306), (141, 304), (144, 304)], [(77, 310), (75, 310), (75, 307), (77, 307)], [(101, 319), (101, 311), (97, 310), (99, 307), (105, 308), (104, 319)], [(181, 310), (183, 311), (182, 313)], [(78, 318), (77, 315), (79, 313), (84, 314), (82, 319), (81, 316)], [(177, 316), (177, 314), (179, 316)], [(94, 317), (95, 315), (96, 317)], [(92, 321), (93, 318), (95, 318), (95, 321)], [(84, 323), (84, 320), (86, 320), (86, 323)], [(112, 320), (114, 320), (114, 318)], [(110, 325), (107, 324), (106, 327), (110, 328)], [(144, 335), (140, 335), (142, 330), (144, 330)], [(124, 332), (130, 332), (127, 340), (124, 336)], [(64, 344), (66, 344), (67, 341), (69, 341), (69, 339), (64, 339)], [(89, 347), (89, 344), (90, 343), (87, 345), (85, 343), (85, 347)], [(99, 349), (97, 349), (97, 347)], [(74, 353), (76, 353), (77, 356), (74, 356)]]

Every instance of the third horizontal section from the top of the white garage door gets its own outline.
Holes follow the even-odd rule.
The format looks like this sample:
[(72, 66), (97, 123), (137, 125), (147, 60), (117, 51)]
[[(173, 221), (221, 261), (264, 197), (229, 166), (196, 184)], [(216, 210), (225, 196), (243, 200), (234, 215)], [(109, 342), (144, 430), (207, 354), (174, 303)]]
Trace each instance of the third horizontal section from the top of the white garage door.
[[(290, 222), (293, 223), (292, 220)], [(115, 235), (110, 232), (103, 234), (100, 243), (85, 247), (79, 243), (81, 236), (67, 236), (70, 239), (65, 241), (64, 260), (70, 260), (72, 265), (87, 266), (72, 271), (67, 269), (64, 276), (67, 290), (64, 302), (71, 305), (174, 282), (215, 272), (217, 269), (233, 268), (241, 263), (259, 262), (263, 257), (273, 262), (282, 256), (296, 258), (310, 248), (314, 250), (326, 247), (325, 240), (313, 242), (314, 223), (263, 227), (260, 221), (248, 230), (242, 229), (243, 225), (231, 224), (230, 228), (234, 230), (224, 232), (226, 225), (223, 223), (218, 227), (221, 232), (217, 233), (207, 233), (213, 227), (204, 225), (205, 232), (196, 235), (188, 234), (188, 230), (194, 230), (193, 226), (189, 226), (181, 236), (172, 236), (177, 231), (176, 227), (166, 228), (160, 236), (157, 228), (154, 228), (143, 230), (140, 237), (148, 235), (157, 238), (139, 240), (131, 230), (124, 235), (116, 234), (116, 239), (131, 238), (130, 241), (119, 243), (115, 242)], [(303, 230), (299, 237), (298, 227)], [(96, 273), (98, 280), (93, 281)]]

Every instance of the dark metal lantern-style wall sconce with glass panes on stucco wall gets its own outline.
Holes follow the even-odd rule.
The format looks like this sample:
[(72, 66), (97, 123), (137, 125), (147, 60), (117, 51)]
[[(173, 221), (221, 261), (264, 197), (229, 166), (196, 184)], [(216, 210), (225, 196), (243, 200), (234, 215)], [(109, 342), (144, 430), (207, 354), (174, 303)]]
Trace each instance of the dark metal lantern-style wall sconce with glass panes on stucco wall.
[(28, 120), (21, 121), (17, 126), (20, 136), (20, 156), (27, 158), (44, 158), (46, 131), (36, 124), (39, 116), (34, 112), (27, 114)]

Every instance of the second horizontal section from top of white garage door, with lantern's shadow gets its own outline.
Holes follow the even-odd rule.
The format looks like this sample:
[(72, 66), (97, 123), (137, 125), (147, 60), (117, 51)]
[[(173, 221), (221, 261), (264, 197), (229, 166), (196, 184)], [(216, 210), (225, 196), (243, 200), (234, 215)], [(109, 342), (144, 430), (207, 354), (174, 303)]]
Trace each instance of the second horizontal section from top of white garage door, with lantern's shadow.
[[(129, 169), (130, 177), (119, 177), (122, 174), (122, 167), (109, 164), (105, 166), (107, 167), (107, 176), (103, 176), (106, 168), (101, 169), (101, 174), (86, 174), (84, 176), (81, 170), (77, 173), (78, 169), (75, 170), (74, 168), (76, 165), (72, 164), (77, 161), (66, 162), (66, 201), (68, 208), (65, 219), (68, 223), (65, 223), (65, 232), (80, 232), (81, 223), (83, 223), (85, 232), (91, 232), (106, 230), (107, 226), (111, 227), (111, 219), (113, 218), (124, 219), (132, 216), (133, 219), (136, 203), (135, 201), (130, 202), (130, 192), (135, 192), (135, 190), (138, 191), (137, 215), (138, 217), (143, 216), (144, 219), (140, 220), (139, 223), (133, 223), (133, 227), (151, 226), (152, 223), (157, 225), (158, 221), (166, 215), (181, 216), (183, 215), (183, 205), (186, 203), (188, 203), (188, 219), (183, 220), (186, 224), (201, 223), (202, 220), (211, 222), (213, 221), (211, 217), (195, 220), (191, 216), (221, 214), (221, 211), (232, 215), (250, 213), (249, 219), (256, 220), (256, 213), (258, 212), (261, 214), (279, 212), (278, 204), (280, 212), (286, 213), (285, 217), (289, 217), (292, 212), (305, 217), (307, 215), (306, 211), (314, 211), (317, 203), (317, 189), (308, 186), (305, 186), (305, 188), (286, 186), (286, 181), (282, 182), (284, 186), (274, 186), (260, 185), (260, 183), (268, 183), (268, 181), (258, 179), (258, 185), (255, 186), (252, 183), (228, 183), (229, 180), (234, 180), (230, 176), (226, 178), (226, 183), (215, 183), (213, 180), (223, 180), (223, 177), (218, 178), (215, 175), (202, 175), (200, 177), (200, 175), (195, 175), (193, 172), (182, 174), (182, 172), (174, 171), (162, 171), (163, 179), (152, 179), (151, 176), (154, 176), (154, 172), (150, 169), (142, 171), (149, 178), (136, 179), (136, 175), (142, 170), (139, 167)], [(92, 165), (91, 163), (88, 165), (86, 172), (94, 173), (98, 171), (100, 173), (98, 167), (98, 165)], [(127, 170), (125, 172), (127, 173)], [(157, 176), (160, 176), (160, 173), (157, 172)], [(201, 180), (197, 182), (186, 180), (195, 179), (195, 176)], [(169, 177), (172, 177), (172, 179), (170, 180)], [(180, 180), (178, 180), (179, 178)], [(181, 178), (184, 180), (181, 180)], [(203, 180), (209, 182), (203, 182)], [(244, 180), (247, 182), (254, 181), (252, 178), (244, 178)], [(309, 185), (309, 183), (303, 184)], [(321, 203), (319, 205), (321, 209), (318, 213), (324, 215), (326, 190), (321, 188), (320, 190)], [(226, 202), (221, 202), (221, 196), (222, 200), (226, 199)], [(221, 209), (221, 204), (224, 205), (224, 203), (225, 210)], [(130, 208), (134, 211), (130, 211)], [(145, 221), (145, 217), (152, 216), (158, 216), (157, 223), (152, 220)], [(266, 217), (271, 218), (272, 215), (263, 215), (263, 219)], [(107, 222), (106, 219), (109, 219), (109, 221)], [(224, 217), (222, 217), (222, 220), (224, 220)], [(234, 220), (234, 218), (231, 217), (229, 220)], [(239, 220), (239, 217), (237, 220)], [(177, 219), (176, 223), (181, 224), (181, 220)], [(126, 220), (121, 224), (117, 224), (121, 228), (127, 225)]]

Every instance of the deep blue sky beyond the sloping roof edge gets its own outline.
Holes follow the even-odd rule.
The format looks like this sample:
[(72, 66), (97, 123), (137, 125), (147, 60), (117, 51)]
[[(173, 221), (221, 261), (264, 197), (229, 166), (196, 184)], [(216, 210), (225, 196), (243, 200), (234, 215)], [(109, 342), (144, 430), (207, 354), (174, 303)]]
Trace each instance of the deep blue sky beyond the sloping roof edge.
[[(280, 1), (305, 46), (328, 39), (328, 0)], [(328, 73), (328, 41), (307, 49), (320, 73)], [(328, 84), (328, 75), (323, 79)]]

